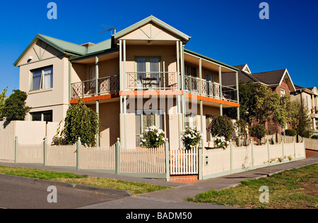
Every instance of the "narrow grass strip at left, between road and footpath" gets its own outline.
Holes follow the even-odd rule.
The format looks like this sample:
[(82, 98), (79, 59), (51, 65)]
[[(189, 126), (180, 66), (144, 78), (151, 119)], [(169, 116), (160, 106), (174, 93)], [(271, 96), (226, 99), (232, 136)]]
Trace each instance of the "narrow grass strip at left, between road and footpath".
[(45, 179), (52, 181), (62, 181), (67, 183), (76, 183), (89, 186), (100, 186), (105, 188), (130, 191), (133, 195), (148, 193), (153, 191), (165, 190), (170, 187), (158, 186), (149, 183), (130, 182), (105, 178), (94, 178), (87, 175), (78, 175), (73, 173), (61, 173), (57, 171), (48, 171), (42, 169), (30, 169), (24, 167), (5, 167), (0, 166), (0, 174), (24, 176), (34, 179)]

